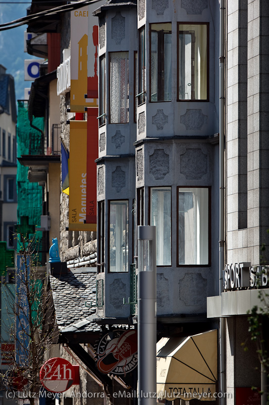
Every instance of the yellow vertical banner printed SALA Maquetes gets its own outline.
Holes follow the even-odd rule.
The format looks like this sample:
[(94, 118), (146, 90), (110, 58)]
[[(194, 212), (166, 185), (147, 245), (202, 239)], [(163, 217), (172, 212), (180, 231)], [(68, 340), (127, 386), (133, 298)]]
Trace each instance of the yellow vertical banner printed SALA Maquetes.
[(70, 121), (69, 230), (95, 231), (86, 224), (87, 121)]

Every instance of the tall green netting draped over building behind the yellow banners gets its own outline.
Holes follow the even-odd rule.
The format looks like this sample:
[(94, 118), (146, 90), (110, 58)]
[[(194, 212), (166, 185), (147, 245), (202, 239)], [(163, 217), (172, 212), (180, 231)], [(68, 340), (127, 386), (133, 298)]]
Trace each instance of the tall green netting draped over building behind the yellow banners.
[[(44, 119), (34, 118), (33, 125), (44, 130)], [(30, 126), (28, 119), (28, 103), (18, 101), (18, 123), (17, 123), (17, 155), (36, 155), (40, 153), (44, 145), (42, 134)], [(18, 223), (21, 217), (29, 217), (29, 224), (40, 226), (42, 215), (42, 187), (38, 183), (28, 181), (28, 167), (18, 162), (17, 166), (17, 193), (18, 193)], [(29, 235), (31, 238), (32, 235)], [(36, 238), (42, 238), (42, 232), (36, 232)], [(20, 244), (18, 244), (20, 249)]]

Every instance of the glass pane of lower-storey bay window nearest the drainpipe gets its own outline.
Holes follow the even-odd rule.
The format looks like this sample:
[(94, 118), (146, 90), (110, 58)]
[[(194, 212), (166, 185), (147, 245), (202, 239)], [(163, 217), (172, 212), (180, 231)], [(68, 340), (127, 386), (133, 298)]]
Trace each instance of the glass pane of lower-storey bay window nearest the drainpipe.
[(208, 264), (208, 188), (179, 188), (179, 264)]

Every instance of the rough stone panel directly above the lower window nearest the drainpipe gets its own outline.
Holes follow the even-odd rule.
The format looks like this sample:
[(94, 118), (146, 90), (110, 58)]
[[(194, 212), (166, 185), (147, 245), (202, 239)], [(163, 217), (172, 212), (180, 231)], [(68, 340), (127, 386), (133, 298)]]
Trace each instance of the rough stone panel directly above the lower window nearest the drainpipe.
[(199, 180), (207, 173), (207, 154), (201, 149), (186, 149), (180, 155), (180, 173), (188, 180)]

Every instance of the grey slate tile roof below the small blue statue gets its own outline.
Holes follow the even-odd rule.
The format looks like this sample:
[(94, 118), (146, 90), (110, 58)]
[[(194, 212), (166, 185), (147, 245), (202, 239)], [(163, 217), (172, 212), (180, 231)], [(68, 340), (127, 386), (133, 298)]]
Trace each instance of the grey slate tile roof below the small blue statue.
[(68, 269), (67, 274), (49, 275), (58, 328), (61, 332), (99, 332), (96, 318), (96, 268)]

